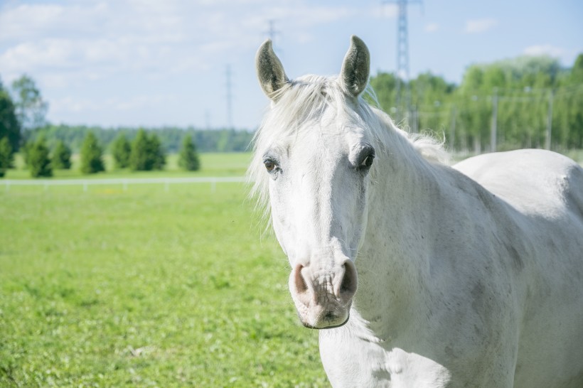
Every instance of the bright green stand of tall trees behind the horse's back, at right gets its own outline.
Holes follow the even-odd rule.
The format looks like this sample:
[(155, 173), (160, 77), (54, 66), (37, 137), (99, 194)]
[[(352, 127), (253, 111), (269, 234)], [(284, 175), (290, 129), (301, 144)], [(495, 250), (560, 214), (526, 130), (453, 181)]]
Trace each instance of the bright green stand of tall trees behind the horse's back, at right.
[(397, 123), (433, 131), (452, 150), (583, 148), (583, 54), (567, 69), (544, 56), (471, 65), (460, 85), (429, 72), (410, 82), (380, 73), (370, 84)]

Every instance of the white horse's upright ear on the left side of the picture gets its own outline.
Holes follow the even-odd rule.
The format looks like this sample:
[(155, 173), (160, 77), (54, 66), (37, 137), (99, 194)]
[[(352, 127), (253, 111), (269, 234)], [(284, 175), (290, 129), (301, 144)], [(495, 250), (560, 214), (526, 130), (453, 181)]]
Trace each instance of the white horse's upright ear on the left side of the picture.
[(289, 80), (284, 72), (284, 66), (273, 52), (272, 41), (267, 39), (257, 50), (255, 55), (257, 78), (263, 92), (270, 99), (275, 100), (274, 93), (281, 89)]

